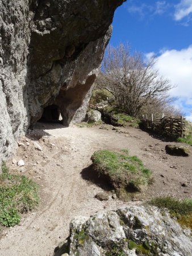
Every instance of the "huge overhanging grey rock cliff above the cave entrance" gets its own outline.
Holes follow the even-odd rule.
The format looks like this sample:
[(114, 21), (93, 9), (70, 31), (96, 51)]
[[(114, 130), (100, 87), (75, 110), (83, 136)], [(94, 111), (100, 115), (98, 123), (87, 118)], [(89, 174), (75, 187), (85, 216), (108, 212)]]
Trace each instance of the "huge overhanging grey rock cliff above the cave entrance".
[(0, 0), (0, 159), (47, 106), (69, 125), (87, 104), (122, 2)]

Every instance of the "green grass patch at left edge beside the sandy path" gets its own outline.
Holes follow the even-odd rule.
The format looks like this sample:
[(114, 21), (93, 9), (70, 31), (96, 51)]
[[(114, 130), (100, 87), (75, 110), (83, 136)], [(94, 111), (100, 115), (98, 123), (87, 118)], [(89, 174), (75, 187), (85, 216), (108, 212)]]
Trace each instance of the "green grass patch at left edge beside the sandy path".
[(0, 175), (0, 224), (19, 224), (21, 213), (39, 204), (38, 185), (25, 176), (9, 174), (5, 163)]

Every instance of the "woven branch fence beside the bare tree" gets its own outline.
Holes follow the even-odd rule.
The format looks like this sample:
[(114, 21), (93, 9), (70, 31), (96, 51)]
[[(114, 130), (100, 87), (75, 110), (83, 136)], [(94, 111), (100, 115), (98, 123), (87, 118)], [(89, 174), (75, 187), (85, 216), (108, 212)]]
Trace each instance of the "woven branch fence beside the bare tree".
[(185, 137), (185, 118), (164, 117), (162, 114), (161, 119), (153, 120), (153, 114), (151, 119), (148, 119), (147, 115), (143, 115), (141, 118), (144, 129), (155, 131), (158, 134), (163, 134), (171, 137)]

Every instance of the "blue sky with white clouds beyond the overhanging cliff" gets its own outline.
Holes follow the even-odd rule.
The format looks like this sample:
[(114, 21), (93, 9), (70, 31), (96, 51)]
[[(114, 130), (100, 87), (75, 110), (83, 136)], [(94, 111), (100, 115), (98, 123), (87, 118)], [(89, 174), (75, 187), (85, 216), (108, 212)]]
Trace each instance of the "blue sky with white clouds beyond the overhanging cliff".
[(177, 85), (174, 105), (192, 121), (192, 0), (127, 0), (114, 15), (112, 46), (156, 56), (160, 74)]

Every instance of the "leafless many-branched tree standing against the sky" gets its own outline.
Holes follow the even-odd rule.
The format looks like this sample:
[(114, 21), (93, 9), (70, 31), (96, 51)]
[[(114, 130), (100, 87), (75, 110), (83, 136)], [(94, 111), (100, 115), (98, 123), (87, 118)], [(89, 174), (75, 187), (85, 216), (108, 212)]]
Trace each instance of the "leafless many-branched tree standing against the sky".
[(155, 70), (155, 59), (144, 61), (140, 53), (130, 54), (130, 47), (108, 46), (97, 84), (110, 91), (119, 108), (136, 117), (153, 98), (163, 98), (173, 87)]

